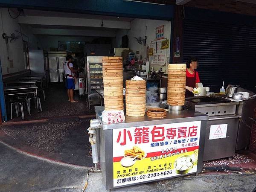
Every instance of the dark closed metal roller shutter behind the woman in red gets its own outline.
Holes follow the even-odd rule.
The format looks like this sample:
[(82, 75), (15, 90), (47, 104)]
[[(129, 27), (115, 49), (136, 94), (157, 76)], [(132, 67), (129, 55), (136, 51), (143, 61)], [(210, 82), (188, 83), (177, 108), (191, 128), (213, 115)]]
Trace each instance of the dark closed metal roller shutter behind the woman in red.
[[(185, 20), (183, 61), (199, 59), (204, 87), (218, 92), (222, 81), (252, 90), (256, 85), (256, 28)], [(254, 76), (254, 77), (253, 77)]]

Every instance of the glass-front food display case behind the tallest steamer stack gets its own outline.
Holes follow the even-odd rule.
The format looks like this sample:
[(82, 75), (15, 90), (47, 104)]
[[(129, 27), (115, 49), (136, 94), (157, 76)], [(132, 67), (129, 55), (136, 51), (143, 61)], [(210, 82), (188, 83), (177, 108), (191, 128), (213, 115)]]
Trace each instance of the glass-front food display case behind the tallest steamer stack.
[(95, 91), (97, 89), (103, 89), (102, 81), (102, 57), (87, 57), (87, 94), (88, 103), (90, 105), (100, 104), (100, 96)]

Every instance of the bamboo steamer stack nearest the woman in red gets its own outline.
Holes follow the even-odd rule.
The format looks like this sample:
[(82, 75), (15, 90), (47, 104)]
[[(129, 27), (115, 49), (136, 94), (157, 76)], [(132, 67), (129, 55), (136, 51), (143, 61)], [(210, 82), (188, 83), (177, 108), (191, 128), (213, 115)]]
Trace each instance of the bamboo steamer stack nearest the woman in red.
[(186, 64), (168, 65), (167, 104), (185, 105)]

